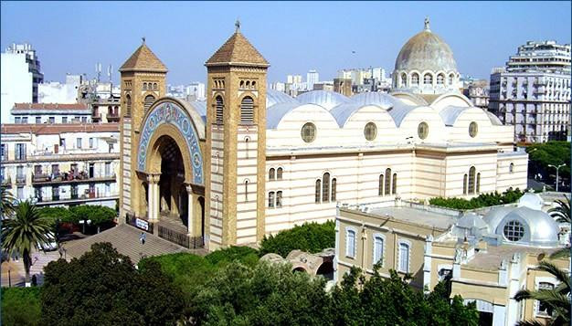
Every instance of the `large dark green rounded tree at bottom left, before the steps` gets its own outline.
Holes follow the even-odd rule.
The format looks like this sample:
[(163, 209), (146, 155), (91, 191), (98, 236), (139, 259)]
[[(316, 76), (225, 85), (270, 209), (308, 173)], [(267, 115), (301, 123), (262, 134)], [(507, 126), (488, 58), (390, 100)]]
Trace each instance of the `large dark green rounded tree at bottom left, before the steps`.
[(110, 243), (50, 262), (40, 301), (43, 325), (171, 325), (184, 308), (157, 263), (137, 270)]

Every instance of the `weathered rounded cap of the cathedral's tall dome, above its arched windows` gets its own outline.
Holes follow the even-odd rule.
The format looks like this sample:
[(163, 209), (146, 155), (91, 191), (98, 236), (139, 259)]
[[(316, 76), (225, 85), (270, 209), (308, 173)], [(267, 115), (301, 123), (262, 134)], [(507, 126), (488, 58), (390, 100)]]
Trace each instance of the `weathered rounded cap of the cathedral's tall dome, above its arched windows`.
[(425, 29), (409, 38), (401, 47), (396, 59), (395, 70), (432, 70), (434, 72), (457, 71), (457, 63), (453, 52), (445, 41), (429, 29), (429, 20), (425, 20)]

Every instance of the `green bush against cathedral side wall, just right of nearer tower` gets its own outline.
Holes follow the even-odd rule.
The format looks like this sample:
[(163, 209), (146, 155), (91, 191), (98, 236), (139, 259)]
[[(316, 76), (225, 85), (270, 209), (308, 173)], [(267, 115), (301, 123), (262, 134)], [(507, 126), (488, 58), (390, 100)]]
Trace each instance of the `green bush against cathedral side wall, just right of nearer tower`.
[(260, 243), (260, 256), (275, 253), (285, 258), (295, 249), (317, 253), (335, 247), (335, 223), (307, 223), (281, 231), (276, 236), (264, 237)]

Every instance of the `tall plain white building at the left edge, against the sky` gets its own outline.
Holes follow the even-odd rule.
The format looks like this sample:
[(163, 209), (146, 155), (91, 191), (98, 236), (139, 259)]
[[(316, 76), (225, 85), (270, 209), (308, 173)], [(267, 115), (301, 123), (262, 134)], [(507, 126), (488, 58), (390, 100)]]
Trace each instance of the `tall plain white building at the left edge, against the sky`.
[(36, 50), (29, 44), (12, 44), (2, 53), (0, 119), (9, 121), (15, 103), (37, 103), (38, 84), (44, 80)]

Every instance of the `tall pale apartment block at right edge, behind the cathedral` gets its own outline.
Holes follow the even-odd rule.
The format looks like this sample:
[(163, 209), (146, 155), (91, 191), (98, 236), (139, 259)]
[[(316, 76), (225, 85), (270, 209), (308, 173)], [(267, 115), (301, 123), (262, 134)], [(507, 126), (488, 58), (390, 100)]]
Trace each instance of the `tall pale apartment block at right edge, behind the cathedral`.
[(570, 131), (570, 45), (527, 42), (491, 74), (489, 110), (517, 142), (565, 140)]

